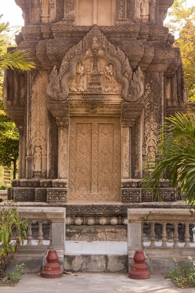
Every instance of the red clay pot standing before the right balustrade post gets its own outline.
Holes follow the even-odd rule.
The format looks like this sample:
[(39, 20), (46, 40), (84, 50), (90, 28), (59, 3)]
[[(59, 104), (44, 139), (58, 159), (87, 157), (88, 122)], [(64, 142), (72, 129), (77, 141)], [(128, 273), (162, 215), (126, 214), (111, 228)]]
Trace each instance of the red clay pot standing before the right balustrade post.
[(148, 272), (147, 266), (144, 264), (145, 256), (142, 250), (136, 251), (134, 255), (135, 263), (131, 267), (129, 277), (132, 279), (149, 279), (150, 273)]

